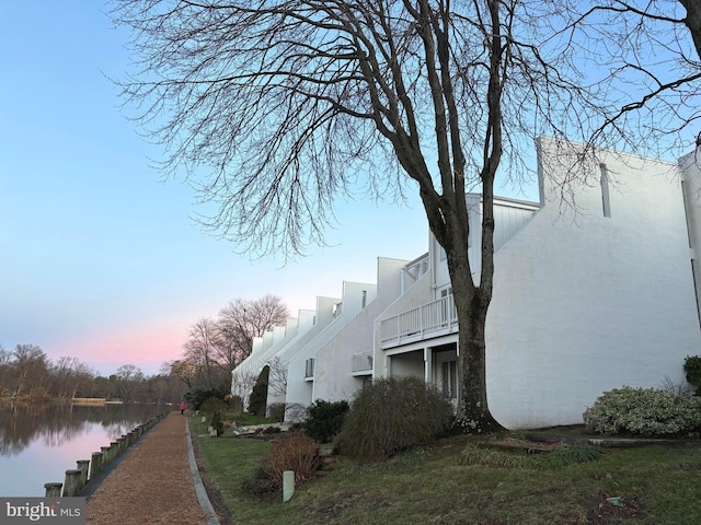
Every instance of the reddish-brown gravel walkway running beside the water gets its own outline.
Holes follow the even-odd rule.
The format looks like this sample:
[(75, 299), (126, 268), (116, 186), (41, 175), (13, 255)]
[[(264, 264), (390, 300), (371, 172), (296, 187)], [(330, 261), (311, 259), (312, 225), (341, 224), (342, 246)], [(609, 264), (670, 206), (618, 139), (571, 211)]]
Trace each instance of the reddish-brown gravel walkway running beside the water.
[(89, 497), (94, 525), (218, 525), (193, 454), (187, 418), (168, 415)]

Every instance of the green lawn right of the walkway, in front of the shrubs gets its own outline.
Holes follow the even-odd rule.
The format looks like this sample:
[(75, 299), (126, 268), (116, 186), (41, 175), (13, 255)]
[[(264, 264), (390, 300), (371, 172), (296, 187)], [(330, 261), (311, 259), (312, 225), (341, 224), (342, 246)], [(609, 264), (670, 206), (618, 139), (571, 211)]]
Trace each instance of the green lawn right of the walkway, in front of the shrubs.
[(191, 421), (204, 467), (235, 524), (701, 523), (701, 442), (611, 450), (540, 468), (505, 457), (489, 465), (461, 460), (473, 440), (455, 436), (382, 463), (344, 459), (281, 503), (242, 490), (268, 443), (209, 438)]

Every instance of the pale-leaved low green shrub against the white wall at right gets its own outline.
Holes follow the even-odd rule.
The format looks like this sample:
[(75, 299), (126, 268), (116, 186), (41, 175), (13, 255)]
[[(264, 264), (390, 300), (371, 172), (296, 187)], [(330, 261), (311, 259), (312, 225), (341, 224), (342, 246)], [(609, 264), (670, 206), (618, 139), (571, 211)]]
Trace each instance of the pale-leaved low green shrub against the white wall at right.
[(589, 431), (642, 436), (676, 435), (701, 425), (701, 399), (655, 388), (605, 392), (584, 412)]

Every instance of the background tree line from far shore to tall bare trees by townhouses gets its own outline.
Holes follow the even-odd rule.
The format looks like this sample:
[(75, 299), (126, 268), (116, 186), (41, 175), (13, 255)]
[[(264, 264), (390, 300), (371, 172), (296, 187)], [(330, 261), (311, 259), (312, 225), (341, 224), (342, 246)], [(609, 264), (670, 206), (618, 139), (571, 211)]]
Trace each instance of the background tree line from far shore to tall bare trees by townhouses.
[(175, 402), (195, 388), (230, 392), (231, 371), (251, 354), (253, 340), (284, 325), (287, 317), (287, 306), (276, 295), (231, 301), (216, 318), (197, 320), (183, 345), (182, 359), (164, 363), (151, 376), (124, 364), (105, 377), (77, 358), (51, 360), (35, 345), (16, 345), (12, 351), (0, 346), (0, 397)]

